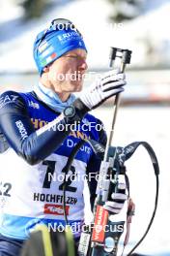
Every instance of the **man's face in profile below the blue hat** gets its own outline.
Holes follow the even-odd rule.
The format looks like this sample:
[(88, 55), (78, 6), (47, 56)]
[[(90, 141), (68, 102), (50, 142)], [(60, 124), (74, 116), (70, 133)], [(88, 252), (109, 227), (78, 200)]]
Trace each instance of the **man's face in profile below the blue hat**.
[(82, 48), (68, 51), (56, 59), (48, 69), (48, 80), (56, 92), (76, 92), (82, 89), (87, 52)]

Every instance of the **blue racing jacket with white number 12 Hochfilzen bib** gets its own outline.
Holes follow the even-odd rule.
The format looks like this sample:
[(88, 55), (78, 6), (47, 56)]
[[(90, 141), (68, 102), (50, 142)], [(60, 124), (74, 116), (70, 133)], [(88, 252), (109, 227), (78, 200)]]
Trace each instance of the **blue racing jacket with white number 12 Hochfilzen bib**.
[[(53, 230), (65, 225), (64, 170), (82, 138), (106, 143), (102, 123), (73, 103), (75, 115), (51, 110), (35, 92), (7, 91), (0, 97), (0, 234), (26, 240), (37, 224)], [(73, 129), (72, 129), (73, 127)], [(100, 128), (99, 128), (100, 127)], [(98, 128), (98, 129), (97, 129)], [(74, 238), (84, 220), (84, 179), (93, 208), (100, 160), (85, 143), (67, 176), (66, 212)]]

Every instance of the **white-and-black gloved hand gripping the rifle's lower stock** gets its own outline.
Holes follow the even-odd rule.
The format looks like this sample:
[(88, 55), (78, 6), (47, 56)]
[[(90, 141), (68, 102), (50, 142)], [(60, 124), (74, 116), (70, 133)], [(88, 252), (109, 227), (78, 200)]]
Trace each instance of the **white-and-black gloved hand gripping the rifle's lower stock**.
[(128, 196), (126, 195), (126, 184), (119, 183), (118, 193), (112, 193), (111, 198), (112, 201), (106, 201), (103, 208), (114, 214), (120, 213), (121, 209), (124, 207), (126, 200), (128, 199)]

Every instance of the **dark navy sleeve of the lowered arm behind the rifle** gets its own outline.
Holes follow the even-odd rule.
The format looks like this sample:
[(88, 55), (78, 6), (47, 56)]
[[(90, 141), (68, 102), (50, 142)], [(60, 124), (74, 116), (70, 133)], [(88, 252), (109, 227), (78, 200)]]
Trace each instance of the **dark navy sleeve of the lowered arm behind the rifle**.
[[(99, 121), (100, 124), (102, 124)], [(99, 144), (106, 145), (107, 137), (104, 130), (99, 131)], [(91, 156), (91, 159), (87, 166), (87, 182), (89, 185), (89, 191), (90, 191), (90, 203), (91, 203), (91, 209), (93, 211), (94, 203), (96, 199), (96, 189), (98, 184), (98, 178), (97, 175), (99, 175), (99, 168), (100, 168), (101, 159), (93, 153)]]

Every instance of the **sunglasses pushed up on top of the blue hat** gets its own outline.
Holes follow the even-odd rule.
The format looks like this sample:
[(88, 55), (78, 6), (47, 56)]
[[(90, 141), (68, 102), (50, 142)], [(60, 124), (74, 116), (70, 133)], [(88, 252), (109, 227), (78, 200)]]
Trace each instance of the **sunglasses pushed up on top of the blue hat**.
[(78, 31), (78, 29), (74, 26), (74, 24), (71, 22), (71, 20), (67, 18), (55, 18), (51, 21), (49, 27), (44, 31), (42, 37), (40, 38), (39, 44), (37, 48), (41, 45), (43, 39), (50, 31), (62, 31), (62, 30), (73, 30), (79, 34), (80, 37), (82, 37), (81, 33)]

